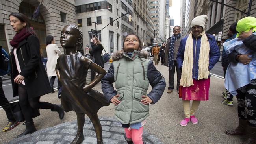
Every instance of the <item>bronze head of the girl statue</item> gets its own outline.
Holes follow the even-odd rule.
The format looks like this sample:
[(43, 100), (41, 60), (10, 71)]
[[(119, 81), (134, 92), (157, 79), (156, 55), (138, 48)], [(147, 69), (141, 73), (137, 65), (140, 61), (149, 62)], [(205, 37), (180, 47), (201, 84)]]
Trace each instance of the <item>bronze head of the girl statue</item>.
[(75, 35), (74, 30), (71, 28), (71, 26), (67, 25), (62, 29), (59, 41), (63, 48), (76, 48), (77, 39), (78, 36)]

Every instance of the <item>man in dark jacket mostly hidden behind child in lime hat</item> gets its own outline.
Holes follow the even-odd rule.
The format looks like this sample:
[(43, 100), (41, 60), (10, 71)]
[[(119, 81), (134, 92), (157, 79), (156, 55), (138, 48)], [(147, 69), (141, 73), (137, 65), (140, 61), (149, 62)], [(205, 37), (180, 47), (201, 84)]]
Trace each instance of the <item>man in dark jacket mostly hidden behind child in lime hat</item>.
[[(229, 30), (228, 30), (228, 39), (225, 41), (225, 42), (228, 42), (234, 38), (236, 38), (236, 34), (238, 33), (236, 31), (236, 25), (237, 25), (237, 22), (235, 22), (234, 24), (232, 24), (230, 27), (229, 27)], [(223, 67), (223, 71), (224, 71), (224, 77), (226, 75), (226, 70), (228, 68), (228, 65), (229, 65), (230, 61), (228, 60), (228, 55), (226, 54), (224, 48), (222, 50), (222, 57), (221, 57), (221, 66)], [(226, 104), (226, 105), (229, 105), (229, 106), (233, 106), (233, 95), (230, 94), (228, 92), (228, 90), (226, 90), (226, 92), (223, 92), (223, 95), (224, 95), (224, 99), (225, 100), (222, 100), (221, 102)]]

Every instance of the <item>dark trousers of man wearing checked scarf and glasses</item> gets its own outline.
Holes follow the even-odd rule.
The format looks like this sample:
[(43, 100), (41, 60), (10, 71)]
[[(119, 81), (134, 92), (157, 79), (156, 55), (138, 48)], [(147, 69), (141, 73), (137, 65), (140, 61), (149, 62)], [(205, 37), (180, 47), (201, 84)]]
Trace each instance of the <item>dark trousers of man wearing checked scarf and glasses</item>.
[(179, 87), (180, 87), (181, 70), (180, 70), (180, 68), (178, 68), (177, 61), (174, 61), (174, 65), (171, 66), (171, 68), (168, 68), (169, 69), (169, 87), (168, 87), (169, 90), (174, 89), (175, 68), (176, 68), (176, 72), (177, 72), (177, 86), (176, 86), (176, 89), (179, 90)]

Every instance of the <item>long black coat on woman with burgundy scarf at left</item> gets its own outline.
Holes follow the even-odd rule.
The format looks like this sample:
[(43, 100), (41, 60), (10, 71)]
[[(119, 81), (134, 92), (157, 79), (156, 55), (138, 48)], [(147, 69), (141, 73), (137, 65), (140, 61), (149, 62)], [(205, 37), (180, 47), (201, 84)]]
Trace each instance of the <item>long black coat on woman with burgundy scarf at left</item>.
[[(17, 46), (17, 57), (20, 65), (20, 75), (24, 76), (24, 82), (28, 98), (38, 97), (51, 92), (50, 83), (41, 62), (39, 52), (39, 39), (30, 35)], [(14, 48), (13, 48), (14, 50)], [(13, 86), (13, 97), (18, 96), (18, 84), (14, 78), (19, 74), (15, 63), (15, 57), (11, 50), (11, 82)]]

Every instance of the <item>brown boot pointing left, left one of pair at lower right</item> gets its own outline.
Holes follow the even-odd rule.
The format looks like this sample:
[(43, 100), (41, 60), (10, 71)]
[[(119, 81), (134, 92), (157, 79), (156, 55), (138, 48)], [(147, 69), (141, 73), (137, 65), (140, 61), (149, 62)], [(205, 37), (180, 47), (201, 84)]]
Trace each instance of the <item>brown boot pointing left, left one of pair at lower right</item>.
[(239, 118), (239, 124), (236, 129), (225, 130), (228, 135), (245, 135), (247, 127), (247, 120), (242, 120)]

